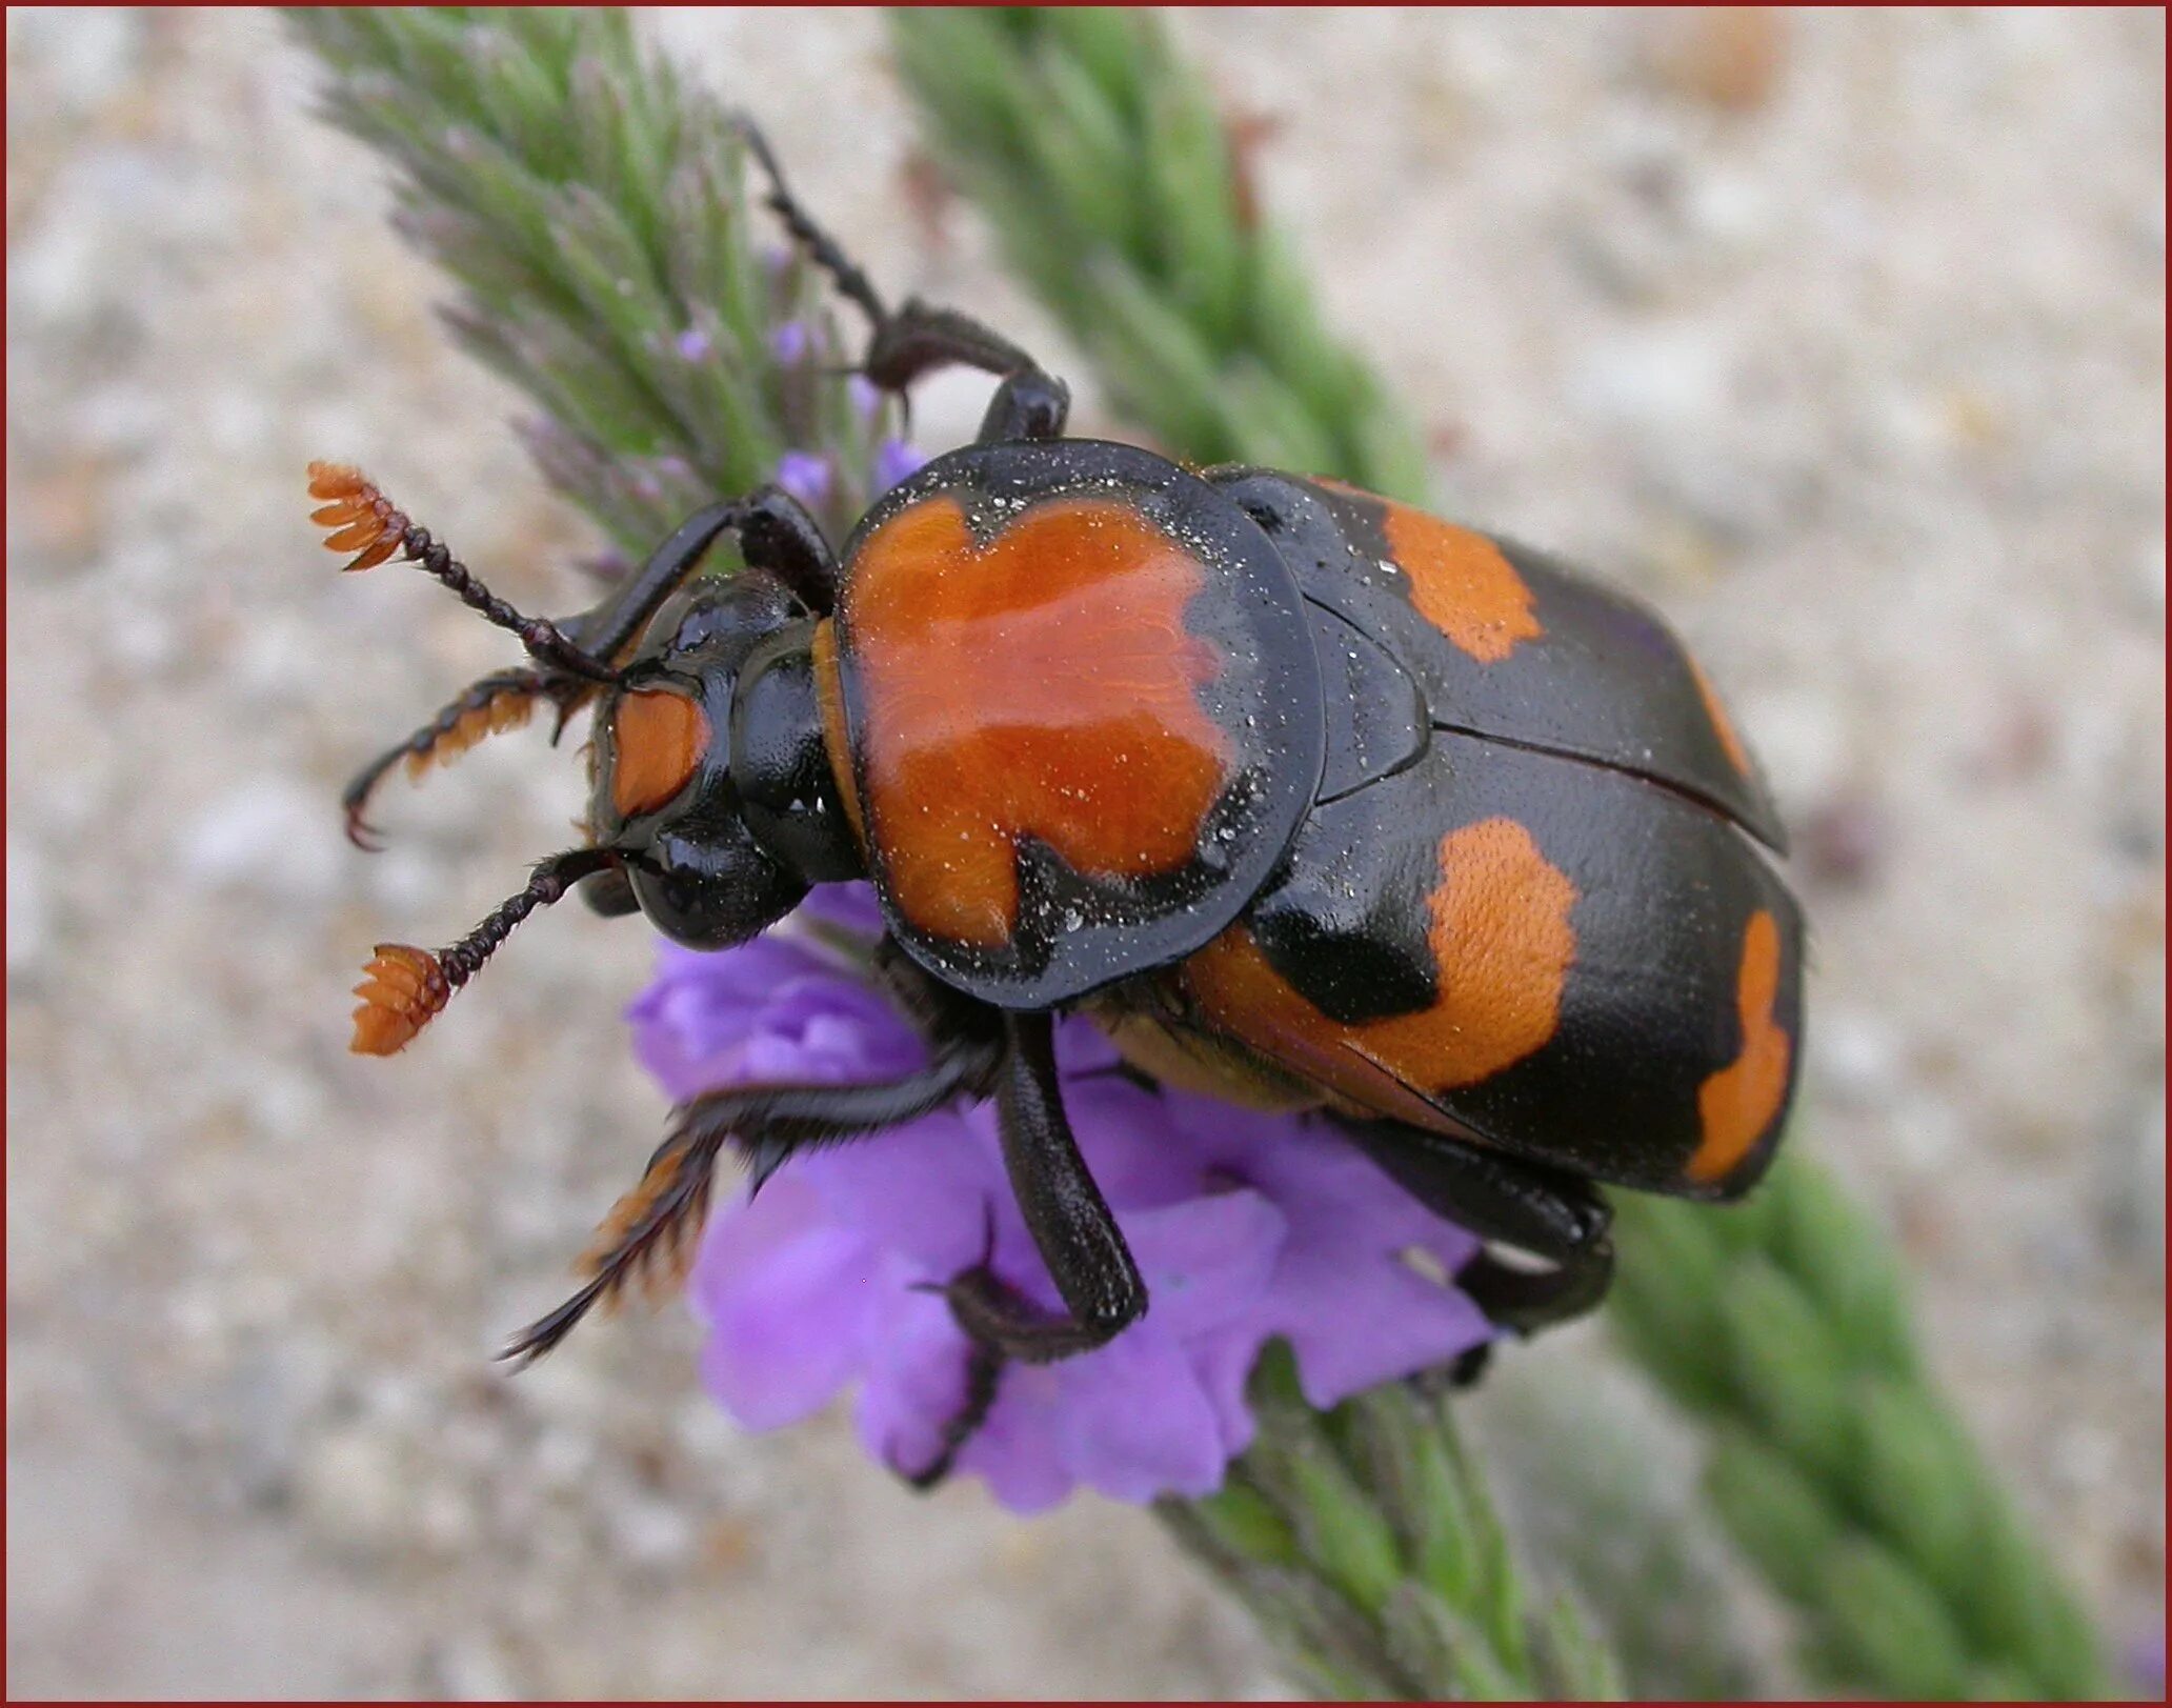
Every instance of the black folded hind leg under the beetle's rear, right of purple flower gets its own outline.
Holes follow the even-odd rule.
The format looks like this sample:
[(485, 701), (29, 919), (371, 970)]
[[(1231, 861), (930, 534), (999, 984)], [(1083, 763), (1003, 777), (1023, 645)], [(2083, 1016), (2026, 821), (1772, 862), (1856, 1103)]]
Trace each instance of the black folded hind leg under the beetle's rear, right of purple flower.
[(1614, 1280), (1612, 1213), (1590, 1184), (1518, 1156), (1401, 1121), (1342, 1130), (1403, 1191), (1479, 1239), (1553, 1263), (1514, 1269), (1481, 1252), (1455, 1284), (1501, 1328), (1536, 1334), (1592, 1310)]

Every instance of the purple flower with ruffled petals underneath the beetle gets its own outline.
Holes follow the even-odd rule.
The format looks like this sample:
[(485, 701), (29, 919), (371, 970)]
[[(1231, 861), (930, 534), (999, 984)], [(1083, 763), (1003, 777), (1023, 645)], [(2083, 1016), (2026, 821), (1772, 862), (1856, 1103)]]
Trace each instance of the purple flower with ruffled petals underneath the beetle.
[[(808, 915), (871, 934), (864, 887)], [(919, 1037), (817, 939), (725, 954), (665, 947), (632, 1006), (641, 1060), (673, 1097), (793, 1078), (910, 1071)], [(1058, 1030), (1066, 1106), (1151, 1289), (1110, 1345), (1010, 1365), (956, 1467), (1016, 1512), (1086, 1484), (1116, 1499), (1203, 1495), (1251, 1441), (1245, 1378), (1284, 1336), (1314, 1406), (1449, 1362), (1492, 1330), (1453, 1286), (1477, 1243), (1381, 1176), (1327, 1123), (1108, 1073), (1090, 1021)], [(1058, 1308), (1003, 1178), (993, 1108), (943, 1110), (804, 1152), (712, 1219), (691, 1293), (704, 1376), (747, 1428), (793, 1423), (858, 1384), (858, 1432), (895, 1471), (930, 1465), (964, 1408), (969, 1345), (927, 1284), (977, 1263)], [(1414, 1260), (1414, 1254), (1423, 1258)]]

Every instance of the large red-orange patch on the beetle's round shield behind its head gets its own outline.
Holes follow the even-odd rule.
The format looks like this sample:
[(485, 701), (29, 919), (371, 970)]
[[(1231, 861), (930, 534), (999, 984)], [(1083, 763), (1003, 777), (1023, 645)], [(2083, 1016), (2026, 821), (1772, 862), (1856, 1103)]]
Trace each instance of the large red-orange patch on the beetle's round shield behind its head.
[(1088, 498), (986, 543), (954, 498), (927, 498), (860, 545), (845, 650), (862, 808), (906, 919), (1008, 941), (1025, 837), (1093, 878), (1192, 858), (1229, 756), (1197, 695), (1221, 658), (1184, 621), (1203, 587), (1182, 543)]

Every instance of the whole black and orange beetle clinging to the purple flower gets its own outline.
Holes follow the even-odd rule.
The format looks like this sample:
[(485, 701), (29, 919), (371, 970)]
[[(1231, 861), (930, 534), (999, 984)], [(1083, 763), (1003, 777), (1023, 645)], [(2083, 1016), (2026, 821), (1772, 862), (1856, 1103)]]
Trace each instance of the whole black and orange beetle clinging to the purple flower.
[[(348, 469), (317, 513), (352, 567), (404, 554), (526, 643), (369, 767), (593, 702), (591, 841), (439, 954), (380, 945), (354, 1047), (400, 1050), (569, 887), (699, 945), (871, 878), (875, 965), (930, 1043), (856, 1087), (699, 1097), (536, 1356), (699, 1223), (730, 1141), (795, 1147), (995, 1097), (1066, 1306), (949, 1286), (997, 1356), (1101, 1345), (1145, 1286), (1064, 1119), (1051, 1017), (1156, 1080), (1329, 1110), (1394, 1180), (1546, 1260), (1462, 1280), (1497, 1321), (1590, 1308), (1592, 1182), (1729, 1200), (1770, 1163), (1801, 1063), (1803, 919), (1781, 826), (1709, 682), (1640, 604), (1551, 558), (1331, 480), (1188, 469), (1064, 439), (1066, 391), (960, 315), (888, 313), (771, 174), (771, 206), (873, 322), (864, 372), (999, 376), (980, 439), (843, 552), (782, 491), (693, 515), (565, 624), (491, 598)], [(697, 580), (736, 535), (747, 569)]]

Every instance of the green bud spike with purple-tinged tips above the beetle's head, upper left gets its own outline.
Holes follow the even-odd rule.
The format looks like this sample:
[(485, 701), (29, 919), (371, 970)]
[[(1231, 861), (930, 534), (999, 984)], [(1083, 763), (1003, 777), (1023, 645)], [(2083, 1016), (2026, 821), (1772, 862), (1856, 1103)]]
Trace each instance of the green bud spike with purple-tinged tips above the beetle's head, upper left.
[[(628, 552), (828, 456), (869, 498), (891, 406), (838, 372), (821, 276), (749, 217), (730, 115), (617, 9), (291, 9), (326, 115), (395, 167), (395, 224), (460, 287), (460, 346), (526, 391), (545, 478)], [(793, 361), (782, 328), (806, 328)]]

